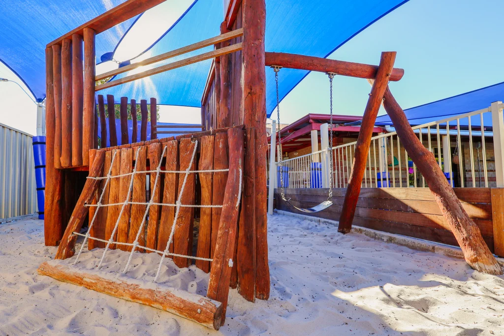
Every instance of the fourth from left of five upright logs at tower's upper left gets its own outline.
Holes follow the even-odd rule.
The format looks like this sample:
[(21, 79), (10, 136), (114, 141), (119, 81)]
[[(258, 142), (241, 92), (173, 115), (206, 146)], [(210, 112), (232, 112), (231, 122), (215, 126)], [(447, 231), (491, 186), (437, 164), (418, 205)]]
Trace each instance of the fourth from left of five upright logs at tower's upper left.
[[(82, 166), (82, 137), (83, 137), (83, 37), (72, 35), (72, 166)], [(89, 155), (86, 153), (87, 157)]]

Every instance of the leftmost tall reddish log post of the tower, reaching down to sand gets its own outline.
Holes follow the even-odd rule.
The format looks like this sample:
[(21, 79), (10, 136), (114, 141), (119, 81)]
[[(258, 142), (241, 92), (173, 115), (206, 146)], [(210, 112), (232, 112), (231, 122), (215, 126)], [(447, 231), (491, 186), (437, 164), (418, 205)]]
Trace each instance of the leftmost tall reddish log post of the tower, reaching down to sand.
[(45, 220), (44, 242), (46, 246), (56, 246), (61, 239), (61, 196), (63, 188), (62, 171), (54, 167), (54, 137), (56, 114), (53, 89), (53, 49), (45, 49), (45, 128), (46, 128), (46, 178), (45, 178)]

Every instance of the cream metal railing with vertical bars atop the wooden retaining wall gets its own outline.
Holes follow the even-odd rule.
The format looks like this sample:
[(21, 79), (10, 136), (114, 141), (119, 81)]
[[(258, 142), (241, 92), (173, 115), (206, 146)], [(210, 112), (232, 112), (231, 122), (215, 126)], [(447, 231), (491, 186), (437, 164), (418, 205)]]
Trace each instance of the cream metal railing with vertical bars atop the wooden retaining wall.
[[(453, 187), (504, 186), (502, 107), (495, 102), (488, 108), (412, 127)], [(362, 187), (427, 187), (393, 127), (388, 130), (371, 138)], [(322, 151), (282, 160), (286, 188), (329, 186), (329, 150), (322, 143)], [(355, 145), (332, 148), (334, 187), (348, 185)], [(270, 176), (275, 187), (280, 187), (279, 171), (280, 164), (273, 163)]]

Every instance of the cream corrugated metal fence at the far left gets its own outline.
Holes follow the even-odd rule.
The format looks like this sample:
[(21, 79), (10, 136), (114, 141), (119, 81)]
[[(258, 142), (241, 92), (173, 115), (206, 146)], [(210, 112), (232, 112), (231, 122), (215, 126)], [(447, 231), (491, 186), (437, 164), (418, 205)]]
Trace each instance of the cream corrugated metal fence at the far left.
[(0, 123), (0, 219), (35, 212), (32, 136)]

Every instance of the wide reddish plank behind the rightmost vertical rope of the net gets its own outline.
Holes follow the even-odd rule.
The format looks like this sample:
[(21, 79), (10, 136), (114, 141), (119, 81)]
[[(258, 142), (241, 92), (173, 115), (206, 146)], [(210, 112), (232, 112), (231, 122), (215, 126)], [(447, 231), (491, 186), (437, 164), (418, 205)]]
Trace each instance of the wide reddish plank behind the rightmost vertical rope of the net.
[[(180, 170), (184, 171), (188, 167), (195, 170), (196, 157), (191, 164), (191, 158), (196, 147), (196, 143), (191, 139), (182, 139), (179, 143), (179, 163)], [(181, 192), (185, 174), (180, 174), (178, 183), (178, 194)], [(180, 203), (183, 205), (195, 204), (195, 174), (187, 174), (185, 187), (180, 196)], [(175, 233), (173, 235), (173, 253), (183, 255), (193, 255), (193, 226), (194, 226), (194, 208), (181, 207), (178, 212), (178, 218), (175, 224)], [(183, 257), (173, 257), (173, 262), (182, 268), (191, 265), (192, 260)]]

